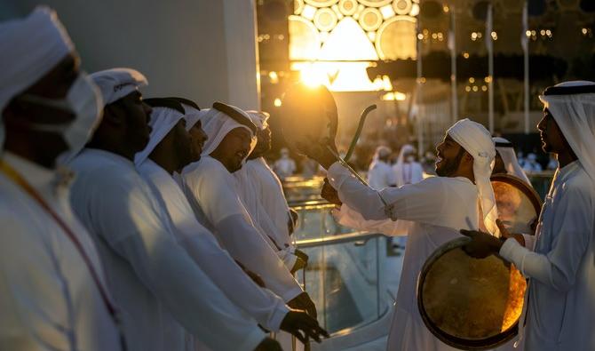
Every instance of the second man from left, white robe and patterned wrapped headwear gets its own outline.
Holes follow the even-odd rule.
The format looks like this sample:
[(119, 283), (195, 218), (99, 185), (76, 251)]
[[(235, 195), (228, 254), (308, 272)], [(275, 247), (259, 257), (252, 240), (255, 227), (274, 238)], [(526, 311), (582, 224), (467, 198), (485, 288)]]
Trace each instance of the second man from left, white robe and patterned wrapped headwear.
[(77, 172), (70, 201), (99, 248), (131, 350), (183, 350), (186, 331), (214, 350), (254, 349), (266, 334), (178, 245), (132, 162), (149, 140), (151, 108), (139, 92), (146, 78), (128, 68), (91, 76), (106, 106), (70, 163)]

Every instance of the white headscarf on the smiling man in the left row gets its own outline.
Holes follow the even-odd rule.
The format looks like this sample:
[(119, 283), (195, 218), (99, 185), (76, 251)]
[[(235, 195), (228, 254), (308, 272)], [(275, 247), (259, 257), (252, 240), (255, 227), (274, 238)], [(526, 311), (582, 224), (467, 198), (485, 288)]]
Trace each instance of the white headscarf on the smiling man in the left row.
[[(243, 111), (242, 111), (243, 112)], [(242, 125), (234, 120), (234, 118), (227, 116), (225, 113), (219, 111), (215, 108), (204, 108), (199, 112), (199, 119), (202, 123), (202, 130), (207, 134), (207, 141), (204, 143), (204, 147), (202, 148), (202, 155), (208, 156), (210, 153), (215, 151), (218, 148), (221, 141), (226, 137), (229, 132), (233, 131), (235, 128), (244, 128), (248, 132), (250, 132), (250, 136), (252, 137), (252, 141), (250, 143), (250, 152), (256, 146), (256, 135), (245, 125)], [(246, 116), (250, 120), (250, 117), (243, 112), (243, 115)]]

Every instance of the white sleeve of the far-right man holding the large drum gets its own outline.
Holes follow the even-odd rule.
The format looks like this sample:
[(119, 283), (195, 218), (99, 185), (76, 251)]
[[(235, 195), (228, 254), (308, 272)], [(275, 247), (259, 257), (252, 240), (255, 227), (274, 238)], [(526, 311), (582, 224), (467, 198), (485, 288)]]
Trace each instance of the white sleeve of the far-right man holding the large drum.
[[(551, 237), (551, 250), (537, 253), (523, 247), (514, 239), (508, 239), (500, 249), (500, 255), (519, 267), (523, 275), (557, 291), (569, 291), (575, 284), (576, 272), (587, 250), (592, 235), (593, 213), (585, 211), (591, 205), (584, 189), (568, 188), (560, 196), (553, 220), (556, 233)], [(553, 212), (553, 211), (551, 211)], [(545, 233), (541, 234), (545, 235)]]

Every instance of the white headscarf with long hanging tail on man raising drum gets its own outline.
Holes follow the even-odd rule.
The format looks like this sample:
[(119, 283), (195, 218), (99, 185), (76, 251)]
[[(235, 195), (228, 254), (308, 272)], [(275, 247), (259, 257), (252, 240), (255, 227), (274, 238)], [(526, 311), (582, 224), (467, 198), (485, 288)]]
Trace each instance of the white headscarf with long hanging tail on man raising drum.
[(483, 224), (491, 235), (499, 236), (496, 226), (498, 211), (494, 189), (489, 181), (496, 157), (494, 141), (488, 130), (468, 118), (462, 119), (448, 129), (448, 135), (473, 156), (473, 176), (480, 193)]

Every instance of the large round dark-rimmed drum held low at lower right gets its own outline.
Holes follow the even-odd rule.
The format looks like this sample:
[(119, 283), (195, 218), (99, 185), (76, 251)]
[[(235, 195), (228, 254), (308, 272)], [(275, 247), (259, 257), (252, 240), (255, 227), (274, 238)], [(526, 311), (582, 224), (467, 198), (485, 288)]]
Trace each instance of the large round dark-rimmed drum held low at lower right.
[(417, 306), (426, 327), (451, 347), (485, 350), (518, 331), (527, 283), (514, 265), (496, 255), (473, 259), (471, 239), (441, 245), (417, 281)]

